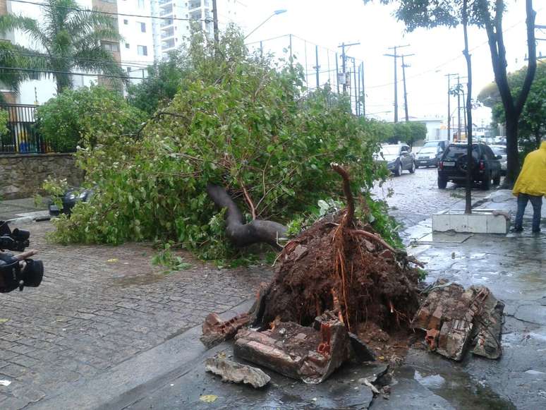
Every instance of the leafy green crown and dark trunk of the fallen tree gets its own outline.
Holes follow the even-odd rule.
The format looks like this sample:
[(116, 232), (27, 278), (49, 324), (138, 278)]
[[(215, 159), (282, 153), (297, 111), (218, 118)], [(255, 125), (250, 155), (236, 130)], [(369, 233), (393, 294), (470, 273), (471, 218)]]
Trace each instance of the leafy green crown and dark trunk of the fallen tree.
[[(226, 260), (250, 243), (278, 248), (284, 226), (339, 197), (330, 162), (351, 168), (354, 191), (387, 176), (373, 154), (388, 127), (328, 87), (306, 90), (301, 66), (249, 54), (233, 29), (216, 50), (196, 34), (183, 54), (180, 90), (138, 131), (86, 128), (76, 156), (94, 195), (54, 222), (56, 240), (173, 241)], [(393, 245), (394, 225), (367, 201)]]

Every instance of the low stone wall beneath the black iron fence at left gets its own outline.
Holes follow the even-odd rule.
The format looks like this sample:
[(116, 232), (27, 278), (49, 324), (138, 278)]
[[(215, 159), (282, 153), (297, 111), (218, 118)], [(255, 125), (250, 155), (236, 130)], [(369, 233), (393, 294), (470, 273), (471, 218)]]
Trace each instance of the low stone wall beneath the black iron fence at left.
[(73, 154), (0, 155), (0, 198), (29, 198), (42, 193), (48, 176), (66, 178), (71, 186), (79, 186), (83, 180)]

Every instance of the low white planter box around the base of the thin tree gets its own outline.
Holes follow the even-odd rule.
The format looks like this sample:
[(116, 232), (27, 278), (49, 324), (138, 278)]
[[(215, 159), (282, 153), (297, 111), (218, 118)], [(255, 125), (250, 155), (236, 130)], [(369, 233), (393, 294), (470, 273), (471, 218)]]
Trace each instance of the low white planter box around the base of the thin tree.
[(432, 215), (434, 232), (467, 232), (471, 234), (507, 234), (510, 214), (496, 210), (472, 210), (471, 215), (461, 211), (443, 211)]

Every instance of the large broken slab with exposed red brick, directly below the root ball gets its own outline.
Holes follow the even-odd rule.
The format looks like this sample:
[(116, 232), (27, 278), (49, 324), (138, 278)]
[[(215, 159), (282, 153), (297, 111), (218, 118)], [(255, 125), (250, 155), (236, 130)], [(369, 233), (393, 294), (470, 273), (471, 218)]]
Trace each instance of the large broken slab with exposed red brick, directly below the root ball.
[(320, 332), (294, 322), (276, 322), (272, 330), (241, 330), (236, 356), (289, 378), (315, 384), (325, 380), (351, 356), (346, 327), (337, 319), (320, 323)]

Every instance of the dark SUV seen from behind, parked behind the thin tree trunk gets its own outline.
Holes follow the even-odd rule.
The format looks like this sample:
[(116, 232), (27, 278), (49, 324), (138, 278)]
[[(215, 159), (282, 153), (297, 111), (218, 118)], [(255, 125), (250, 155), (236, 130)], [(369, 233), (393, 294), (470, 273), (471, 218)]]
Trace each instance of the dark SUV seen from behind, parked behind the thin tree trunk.
[[(438, 164), (438, 188), (444, 189), (448, 181), (462, 183), (466, 181), (466, 151), (467, 145), (450, 144), (445, 150)], [(485, 144), (472, 145), (474, 182), (481, 183), (483, 189), (489, 189), (493, 184), (500, 183), (501, 165), (499, 158), (490, 147)]]

